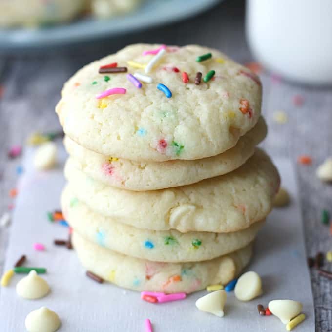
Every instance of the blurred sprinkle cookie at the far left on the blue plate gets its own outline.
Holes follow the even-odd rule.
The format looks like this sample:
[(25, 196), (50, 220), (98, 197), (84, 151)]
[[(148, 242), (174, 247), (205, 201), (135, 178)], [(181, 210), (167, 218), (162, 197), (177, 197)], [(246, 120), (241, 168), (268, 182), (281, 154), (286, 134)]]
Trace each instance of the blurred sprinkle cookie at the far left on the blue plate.
[(70, 21), (85, 9), (86, 0), (2, 0), (0, 27), (36, 26)]

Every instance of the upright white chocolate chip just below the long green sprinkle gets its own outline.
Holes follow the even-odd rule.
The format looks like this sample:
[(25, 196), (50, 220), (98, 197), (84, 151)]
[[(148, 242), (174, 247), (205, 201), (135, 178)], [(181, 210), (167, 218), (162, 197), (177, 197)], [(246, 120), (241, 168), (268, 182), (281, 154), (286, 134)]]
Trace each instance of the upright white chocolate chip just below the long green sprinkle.
[(47, 295), (50, 288), (47, 282), (35, 270), (22, 278), (16, 285), (16, 292), (23, 298), (34, 300)]

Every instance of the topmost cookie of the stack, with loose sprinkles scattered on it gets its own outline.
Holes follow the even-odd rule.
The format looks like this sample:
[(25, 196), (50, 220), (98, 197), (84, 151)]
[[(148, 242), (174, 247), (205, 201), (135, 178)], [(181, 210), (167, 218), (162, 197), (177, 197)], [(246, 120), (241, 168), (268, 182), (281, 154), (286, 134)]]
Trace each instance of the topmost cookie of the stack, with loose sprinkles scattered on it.
[[(158, 47), (127, 46), (79, 70), (65, 83), (56, 107), (64, 132), (104, 155), (166, 161), (220, 154), (253, 128), (260, 116), (261, 84), (249, 69), (217, 50), (197, 45), (166, 47), (150, 72), (145, 73), (147, 67), (136, 68), (155, 57), (143, 55), (144, 51)], [(196, 61), (207, 53), (212, 57)], [(101, 66), (113, 62), (127, 67), (127, 72), (98, 73)], [(207, 81), (211, 70), (215, 75)], [(199, 85), (197, 72), (202, 73)], [(137, 88), (127, 79), (127, 74), (137, 73), (149, 76), (152, 83), (141, 81), (142, 87)], [(168, 87), (170, 98), (157, 88), (160, 83)], [(124, 88), (125, 94), (96, 98), (116, 87)]]

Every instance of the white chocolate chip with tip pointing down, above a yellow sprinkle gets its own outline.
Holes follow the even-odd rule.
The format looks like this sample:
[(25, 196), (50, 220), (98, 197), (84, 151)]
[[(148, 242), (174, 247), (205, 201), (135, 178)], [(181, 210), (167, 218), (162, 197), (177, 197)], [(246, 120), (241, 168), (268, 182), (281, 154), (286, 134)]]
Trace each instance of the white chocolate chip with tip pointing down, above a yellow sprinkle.
[(302, 311), (302, 303), (293, 300), (273, 300), (269, 302), (269, 310), (284, 324), (296, 317)]

